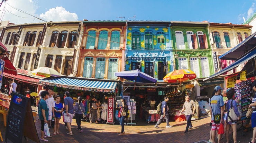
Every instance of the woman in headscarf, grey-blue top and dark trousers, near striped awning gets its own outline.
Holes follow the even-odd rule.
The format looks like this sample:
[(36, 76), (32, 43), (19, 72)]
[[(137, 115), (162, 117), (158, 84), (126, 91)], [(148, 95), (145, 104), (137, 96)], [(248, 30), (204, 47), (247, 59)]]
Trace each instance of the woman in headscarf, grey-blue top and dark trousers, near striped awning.
[(79, 131), (79, 133), (82, 133), (83, 130), (81, 128), (81, 120), (83, 118), (83, 114), (85, 112), (84, 110), (84, 105), (82, 103), (82, 97), (77, 97), (77, 102), (75, 103), (75, 121), (77, 124), (77, 131)]

